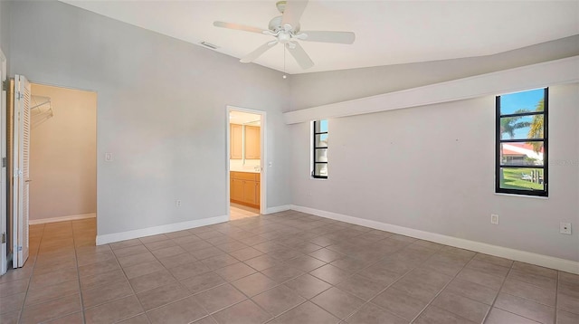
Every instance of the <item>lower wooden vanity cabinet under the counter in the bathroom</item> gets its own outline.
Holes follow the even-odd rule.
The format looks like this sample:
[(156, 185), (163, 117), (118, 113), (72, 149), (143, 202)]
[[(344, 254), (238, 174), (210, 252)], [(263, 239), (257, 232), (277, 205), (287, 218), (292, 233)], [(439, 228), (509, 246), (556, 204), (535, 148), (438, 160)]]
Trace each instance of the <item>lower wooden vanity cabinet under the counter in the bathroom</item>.
[(250, 172), (230, 173), (231, 192), (230, 199), (233, 203), (260, 207), (260, 174)]

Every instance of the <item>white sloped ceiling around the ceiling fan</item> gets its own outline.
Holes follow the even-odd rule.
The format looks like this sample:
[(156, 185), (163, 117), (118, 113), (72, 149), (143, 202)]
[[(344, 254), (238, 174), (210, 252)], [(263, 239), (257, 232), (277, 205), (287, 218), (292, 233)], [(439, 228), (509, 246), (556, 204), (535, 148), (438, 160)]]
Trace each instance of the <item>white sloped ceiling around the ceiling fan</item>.
[[(213, 22), (265, 29), (279, 15), (276, 0), (63, 2), (189, 43), (214, 43), (217, 52), (237, 58), (273, 38)], [(303, 31), (355, 32), (356, 42), (302, 42), (316, 65), (304, 71), (288, 53), (289, 74), (489, 55), (544, 43), (579, 34), (579, 1), (311, 0), (300, 23)], [(283, 56), (278, 44), (255, 63), (284, 71)]]

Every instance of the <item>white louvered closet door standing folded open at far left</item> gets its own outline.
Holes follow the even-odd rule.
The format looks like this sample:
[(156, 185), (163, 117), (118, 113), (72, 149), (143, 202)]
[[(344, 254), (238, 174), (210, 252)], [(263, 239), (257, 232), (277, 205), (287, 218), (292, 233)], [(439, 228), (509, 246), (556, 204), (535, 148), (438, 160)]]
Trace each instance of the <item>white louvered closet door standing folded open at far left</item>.
[(22, 267), (28, 259), (30, 96), (30, 82), (14, 75), (14, 268)]

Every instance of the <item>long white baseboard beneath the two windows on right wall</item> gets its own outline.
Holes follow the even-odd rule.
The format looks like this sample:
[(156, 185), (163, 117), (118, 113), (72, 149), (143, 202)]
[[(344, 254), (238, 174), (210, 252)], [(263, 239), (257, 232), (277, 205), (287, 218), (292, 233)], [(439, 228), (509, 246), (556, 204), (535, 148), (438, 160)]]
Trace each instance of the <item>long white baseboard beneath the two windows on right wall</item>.
[(315, 214), (320, 217), (334, 219), (337, 221), (346, 222), (349, 224), (356, 224), (361, 226), (366, 226), (370, 228), (375, 228), (377, 230), (398, 233), (406, 236), (411, 236), (417, 239), (422, 239), (426, 241), (431, 241), (435, 243), (441, 243), (445, 245), (451, 245), (458, 247), (460, 249), (466, 249), (470, 251), (475, 251), (478, 253), (486, 253), (501, 258), (507, 258), (510, 260), (515, 260), (519, 262), (527, 262), (531, 264), (540, 265), (542, 267), (556, 269), (562, 272), (571, 272), (579, 274), (579, 262), (574, 262), (571, 260), (565, 260), (560, 258), (555, 258), (548, 255), (530, 253), (521, 250), (510, 249), (503, 246), (492, 245), (488, 243), (481, 243), (476, 241), (470, 241), (466, 239), (461, 239), (454, 236), (442, 235), (439, 233), (424, 232), (420, 230), (415, 230), (413, 228), (386, 224), (381, 222), (376, 222), (364, 218), (347, 216), (345, 214), (337, 214), (332, 212), (327, 212), (323, 210), (318, 210), (314, 208), (304, 207), (300, 205), (291, 205), (291, 209), (298, 212)]

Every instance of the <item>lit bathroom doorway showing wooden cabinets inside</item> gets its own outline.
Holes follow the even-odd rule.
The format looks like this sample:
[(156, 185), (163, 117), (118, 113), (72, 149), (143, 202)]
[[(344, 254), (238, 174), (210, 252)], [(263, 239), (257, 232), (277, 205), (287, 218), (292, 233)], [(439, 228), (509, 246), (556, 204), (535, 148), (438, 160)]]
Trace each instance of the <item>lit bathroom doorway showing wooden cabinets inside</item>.
[(227, 210), (230, 220), (264, 214), (265, 112), (227, 108)]

